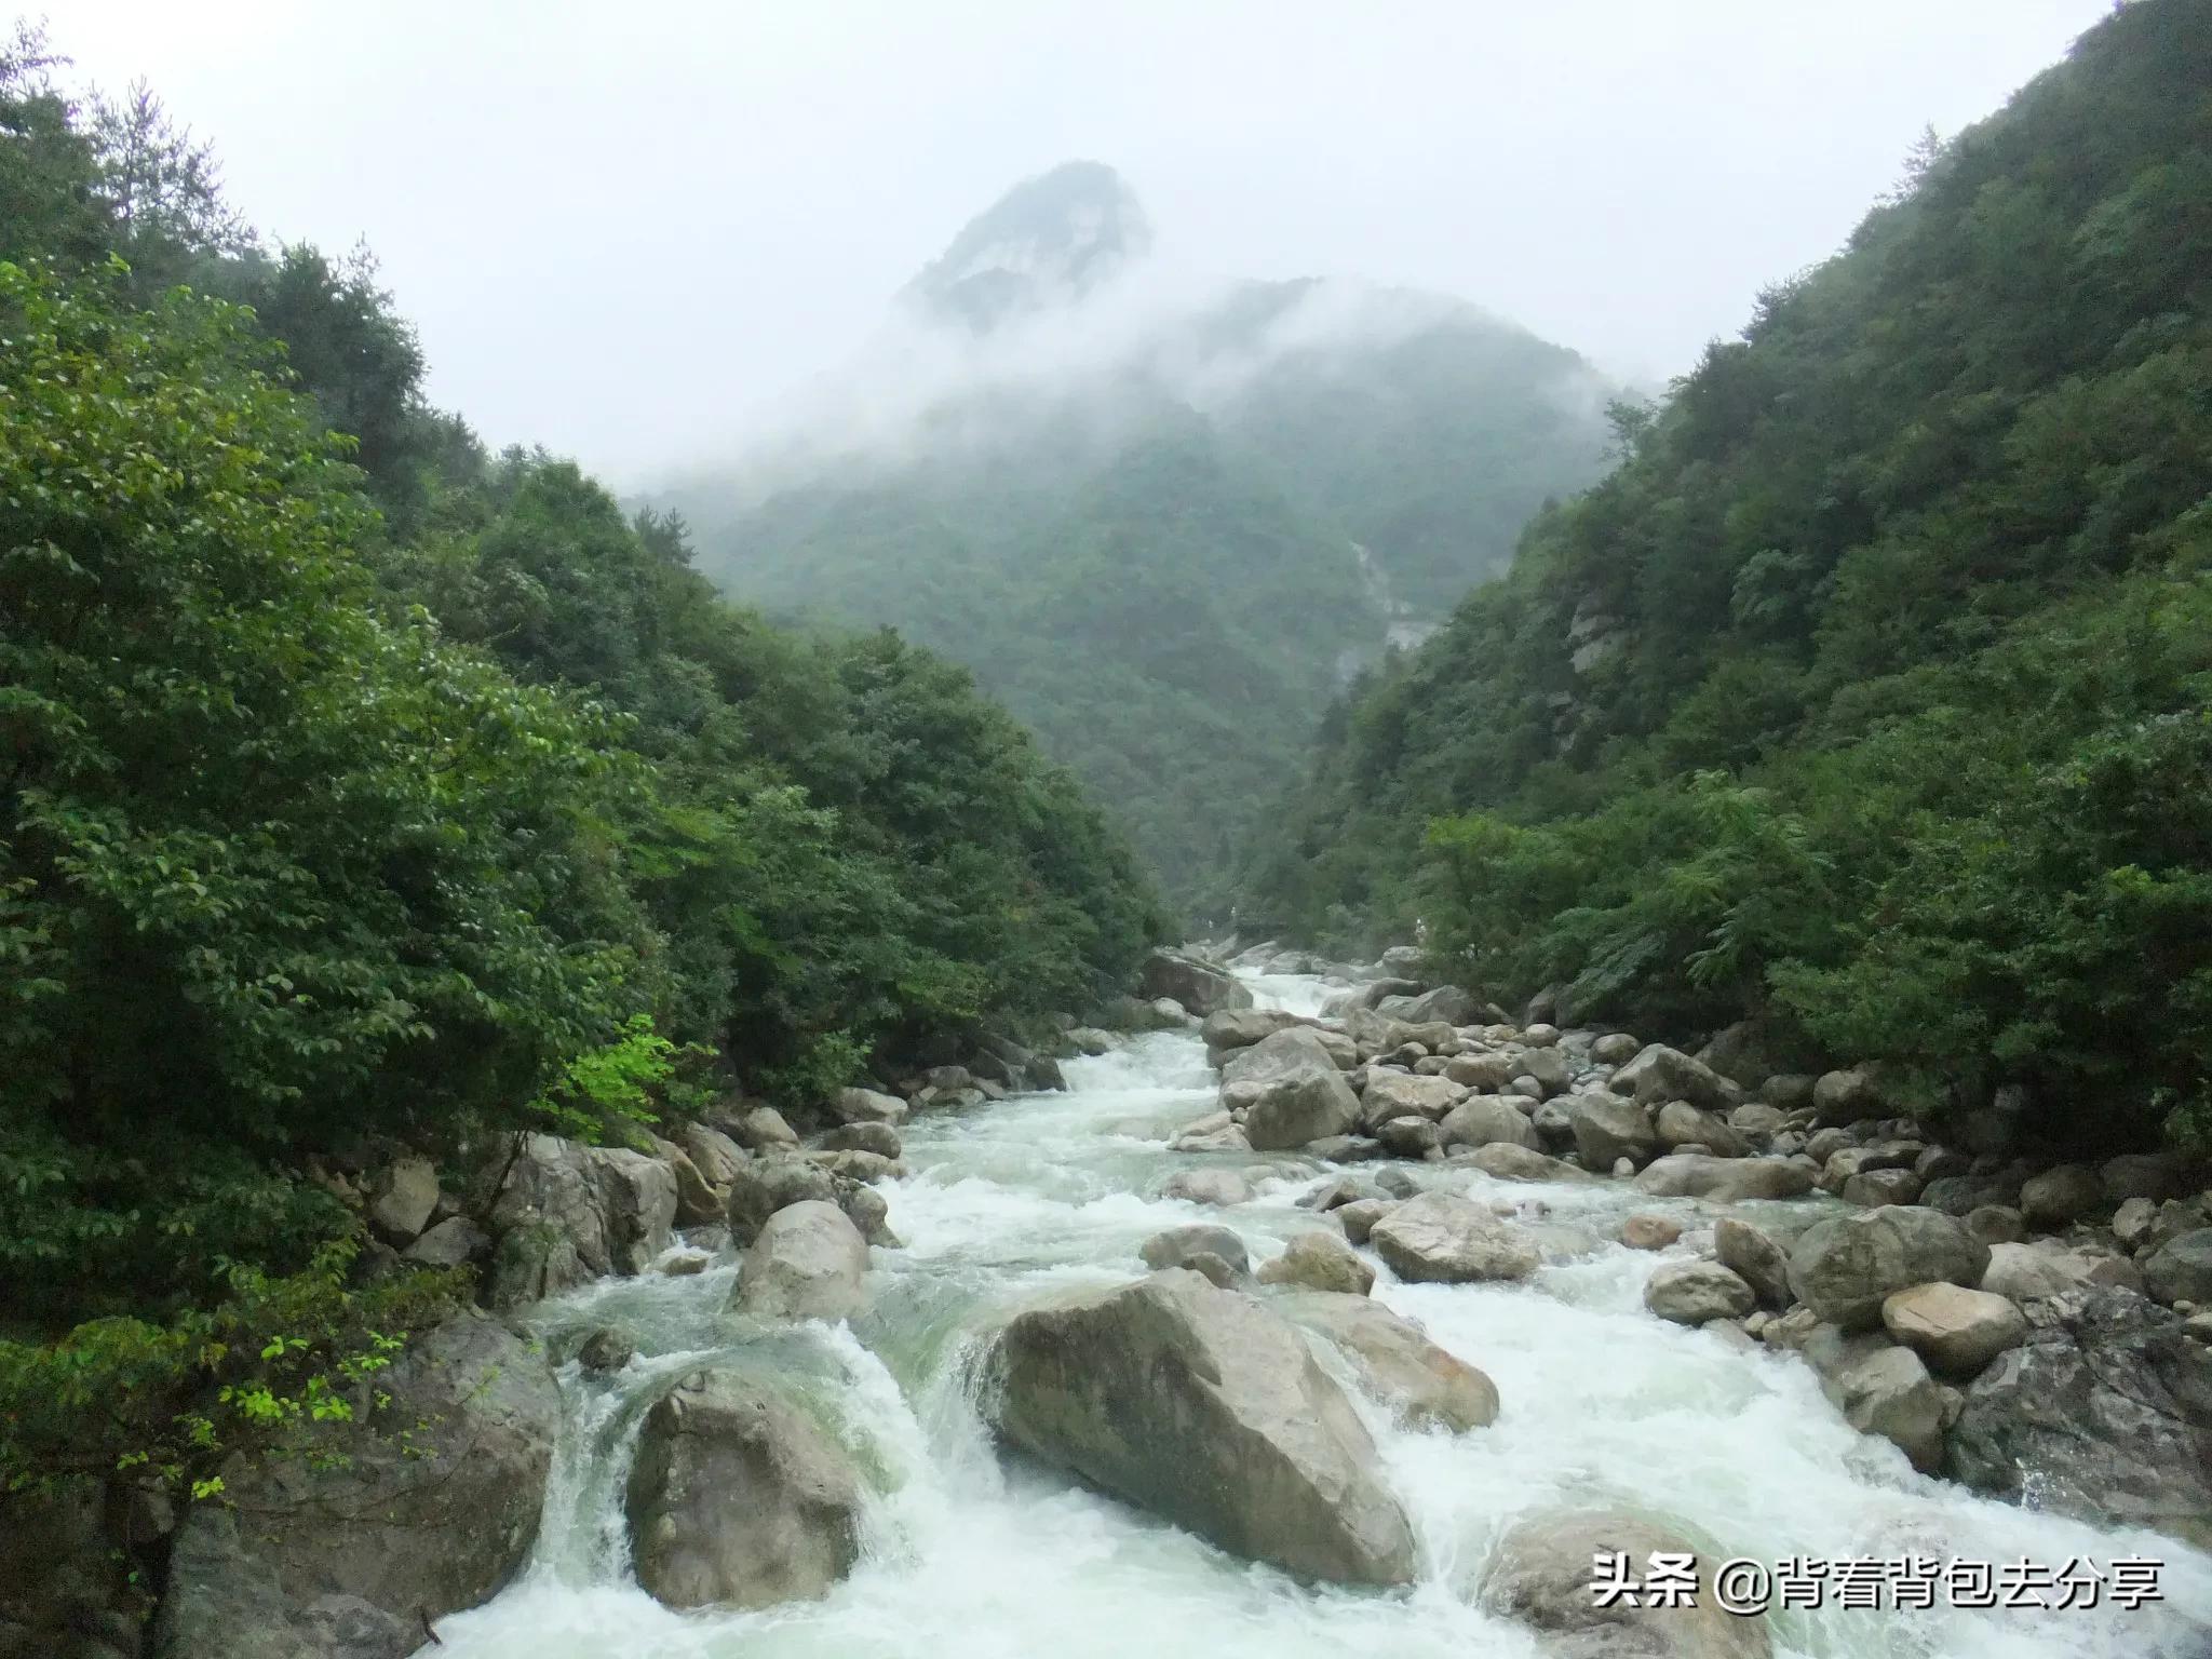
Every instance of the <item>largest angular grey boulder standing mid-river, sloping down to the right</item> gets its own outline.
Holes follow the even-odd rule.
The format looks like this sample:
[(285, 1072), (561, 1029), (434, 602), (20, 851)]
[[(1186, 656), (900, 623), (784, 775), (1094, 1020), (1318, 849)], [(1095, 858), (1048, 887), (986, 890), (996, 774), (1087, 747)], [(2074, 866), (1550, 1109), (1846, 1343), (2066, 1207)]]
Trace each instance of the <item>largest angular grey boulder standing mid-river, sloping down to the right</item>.
[(1018, 1314), (998, 1427), (1091, 1486), (1298, 1577), (1407, 1584), (1413, 1531), (1279, 1314), (1168, 1270)]

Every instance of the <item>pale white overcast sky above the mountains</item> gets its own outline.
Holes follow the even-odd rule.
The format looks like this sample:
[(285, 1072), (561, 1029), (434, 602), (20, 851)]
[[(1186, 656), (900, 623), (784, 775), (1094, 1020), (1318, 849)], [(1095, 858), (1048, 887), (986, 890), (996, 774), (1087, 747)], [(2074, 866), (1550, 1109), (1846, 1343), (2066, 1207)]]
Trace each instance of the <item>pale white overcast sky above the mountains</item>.
[[(38, 0), (31, 0), (38, 4)], [(1829, 252), (2106, 0), (91, 0), (263, 230), (367, 237), (431, 394), (615, 482), (836, 365), (1015, 179), (1164, 257), (1473, 299), (1635, 378)]]

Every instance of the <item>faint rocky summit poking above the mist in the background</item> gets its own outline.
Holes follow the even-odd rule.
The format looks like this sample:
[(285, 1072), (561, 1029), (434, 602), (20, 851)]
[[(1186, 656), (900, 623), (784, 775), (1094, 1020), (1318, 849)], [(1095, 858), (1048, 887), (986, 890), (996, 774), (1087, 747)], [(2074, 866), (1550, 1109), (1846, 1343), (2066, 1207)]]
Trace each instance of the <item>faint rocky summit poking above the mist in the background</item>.
[(1150, 246), (1152, 226), (1119, 173), (1102, 161), (1062, 161), (969, 219), (905, 299), (982, 334), (1011, 316), (1082, 299)]

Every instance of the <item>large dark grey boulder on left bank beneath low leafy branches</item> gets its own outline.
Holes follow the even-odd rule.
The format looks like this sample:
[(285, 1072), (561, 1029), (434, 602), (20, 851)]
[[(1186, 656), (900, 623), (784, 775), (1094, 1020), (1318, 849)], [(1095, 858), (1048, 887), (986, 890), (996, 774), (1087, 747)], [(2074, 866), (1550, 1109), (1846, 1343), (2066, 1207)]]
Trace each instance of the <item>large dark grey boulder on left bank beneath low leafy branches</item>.
[(467, 1314), (414, 1338), (378, 1389), (383, 1411), (319, 1429), (330, 1455), (230, 1469), (223, 1500), (186, 1513), (161, 1659), (400, 1659), (425, 1621), (515, 1575), (562, 1411), (544, 1354)]

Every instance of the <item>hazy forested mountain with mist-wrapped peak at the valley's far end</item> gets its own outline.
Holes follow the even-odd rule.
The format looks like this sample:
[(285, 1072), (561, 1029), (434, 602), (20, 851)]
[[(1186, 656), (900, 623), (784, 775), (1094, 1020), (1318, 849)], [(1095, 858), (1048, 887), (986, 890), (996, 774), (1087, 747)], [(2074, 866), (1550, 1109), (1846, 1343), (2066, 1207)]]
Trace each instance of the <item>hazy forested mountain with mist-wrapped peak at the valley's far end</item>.
[(1345, 677), (1597, 476), (1604, 387), (1462, 301), (1115, 288), (1144, 292), (1148, 248), (1110, 168), (1015, 186), (900, 296), (918, 356), (960, 363), (911, 429), (832, 429), (653, 498), (770, 615), (896, 622), (973, 668), (1170, 896), (1221, 916)]

